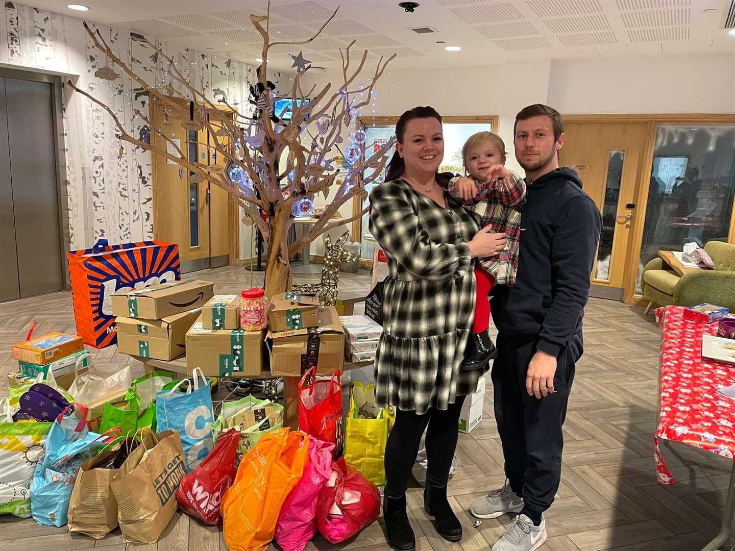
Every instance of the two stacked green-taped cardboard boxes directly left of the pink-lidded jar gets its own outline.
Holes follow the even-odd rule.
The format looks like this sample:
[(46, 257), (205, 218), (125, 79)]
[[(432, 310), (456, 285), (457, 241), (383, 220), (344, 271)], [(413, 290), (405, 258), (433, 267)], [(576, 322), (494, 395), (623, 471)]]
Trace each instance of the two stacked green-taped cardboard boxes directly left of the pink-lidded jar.
[(257, 377), (264, 334), (240, 329), (240, 297), (217, 295), (186, 334), (187, 371), (198, 367), (211, 377)]

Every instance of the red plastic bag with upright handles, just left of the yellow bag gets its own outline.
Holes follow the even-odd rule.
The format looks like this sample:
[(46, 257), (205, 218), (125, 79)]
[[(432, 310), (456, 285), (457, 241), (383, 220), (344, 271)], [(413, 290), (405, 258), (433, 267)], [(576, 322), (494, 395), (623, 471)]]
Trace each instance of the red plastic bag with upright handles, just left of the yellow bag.
[(334, 459), (342, 457), (345, 450), (340, 378), (340, 370), (334, 370), (329, 381), (315, 381), (316, 367), (311, 367), (298, 381), (298, 428), (334, 444)]

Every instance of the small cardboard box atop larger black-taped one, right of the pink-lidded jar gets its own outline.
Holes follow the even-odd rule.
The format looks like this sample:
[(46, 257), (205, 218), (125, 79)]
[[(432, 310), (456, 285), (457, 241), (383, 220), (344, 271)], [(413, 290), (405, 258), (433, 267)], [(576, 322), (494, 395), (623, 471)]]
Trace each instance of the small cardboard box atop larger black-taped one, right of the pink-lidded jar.
[(315, 297), (286, 292), (268, 306), (270, 372), (300, 377), (312, 365), (317, 375), (343, 370), (345, 334), (337, 309), (320, 308)]

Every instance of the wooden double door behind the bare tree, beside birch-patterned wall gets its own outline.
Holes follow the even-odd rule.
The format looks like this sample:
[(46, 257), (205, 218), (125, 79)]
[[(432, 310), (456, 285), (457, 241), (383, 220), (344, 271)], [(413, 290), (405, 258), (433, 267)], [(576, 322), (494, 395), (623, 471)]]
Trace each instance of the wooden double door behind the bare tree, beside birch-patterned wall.
[[(192, 162), (224, 165), (208, 145), (213, 145), (207, 129), (198, 132), (184, 129), (182, 120), (163, 105), (154, 102), (151, 123), (179, 145)], [(158, 148), (175, 151), (171, 144), (151, 132)], [(231, 222), (229, 194), (208, 181), (190, 181), (193, 176), (163, 156), (153, 156), (153, 226), (157, 240), (179, 244), (182, 272), (225, 266), (230, 263)], [(237, 224), (234, 225), (237, 228)]]

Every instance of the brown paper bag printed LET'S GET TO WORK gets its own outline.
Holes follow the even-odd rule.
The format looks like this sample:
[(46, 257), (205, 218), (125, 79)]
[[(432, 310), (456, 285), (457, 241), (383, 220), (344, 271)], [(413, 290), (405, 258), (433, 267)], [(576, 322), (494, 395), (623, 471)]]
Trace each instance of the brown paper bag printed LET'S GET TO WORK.
[(110, 483), (118, 502), (118, 522), (125, 541), (154, 544), (176, 512), (176, 489), (186, 475), (177, 431), (143, 432)]

